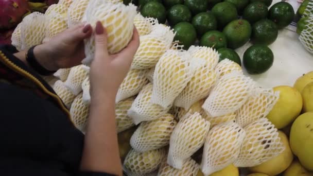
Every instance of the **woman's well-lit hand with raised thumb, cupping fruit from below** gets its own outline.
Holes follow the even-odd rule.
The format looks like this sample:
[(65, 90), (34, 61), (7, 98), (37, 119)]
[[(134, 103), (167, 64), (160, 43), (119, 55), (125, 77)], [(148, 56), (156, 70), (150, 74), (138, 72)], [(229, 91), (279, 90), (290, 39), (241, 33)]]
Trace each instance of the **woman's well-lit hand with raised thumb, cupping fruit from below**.
[(103, 98), (101, 95), (115, 100), (118, 87), (129, 71), (139, 43), (139, 35), (134, 27), (133, 38), (128, 46), (118, 54), (110, 55), (107, 49), (106, 29), (103, 28), (100, 22), (97, 22), (95, 28), (95, 58), (90, 69), (92, 100)]

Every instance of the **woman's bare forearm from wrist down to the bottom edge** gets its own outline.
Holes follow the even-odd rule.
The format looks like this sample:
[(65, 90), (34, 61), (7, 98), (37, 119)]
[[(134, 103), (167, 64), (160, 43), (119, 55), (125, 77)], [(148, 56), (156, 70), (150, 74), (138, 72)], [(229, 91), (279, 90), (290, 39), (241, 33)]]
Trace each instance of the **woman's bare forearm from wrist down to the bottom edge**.
[(92, 100), (86, 130), (81, 170), (122, 175), (115, 127), (113, 97)]

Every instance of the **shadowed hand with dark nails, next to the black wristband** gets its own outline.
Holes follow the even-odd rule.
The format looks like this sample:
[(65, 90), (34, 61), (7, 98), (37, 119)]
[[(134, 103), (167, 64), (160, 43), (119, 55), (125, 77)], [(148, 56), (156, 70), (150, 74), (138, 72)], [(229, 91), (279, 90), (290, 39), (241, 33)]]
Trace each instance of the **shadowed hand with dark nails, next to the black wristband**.
[(38, 62), (50, 71), (81, 64), (85, 58), (83, 40), (92, 33), (90, 24), (77, 25), (34, 48)]

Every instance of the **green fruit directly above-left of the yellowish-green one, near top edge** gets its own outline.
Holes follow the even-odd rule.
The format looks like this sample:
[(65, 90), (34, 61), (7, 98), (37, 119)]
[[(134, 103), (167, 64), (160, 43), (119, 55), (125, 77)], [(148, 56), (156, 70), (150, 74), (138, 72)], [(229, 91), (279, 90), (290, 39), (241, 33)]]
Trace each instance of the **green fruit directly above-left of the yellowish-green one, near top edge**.
[(216, 17), (218, 27), (221, 29), (229, 22), (236, 20), (238, 17), (236, 7), (229, 2), (216, 4), (212, 8), (212, 13)]

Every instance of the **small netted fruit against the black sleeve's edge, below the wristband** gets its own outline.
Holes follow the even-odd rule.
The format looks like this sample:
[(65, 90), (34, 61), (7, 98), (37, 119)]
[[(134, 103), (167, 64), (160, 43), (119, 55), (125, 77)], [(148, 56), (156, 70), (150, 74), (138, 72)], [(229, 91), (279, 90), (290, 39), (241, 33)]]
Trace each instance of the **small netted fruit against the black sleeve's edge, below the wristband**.
[(67, 87), (64, 85), (64, 82), (62, 82), (61, 80), (56, 81), (53, 89), (56, 94), (62, 99), (66, 107), (68, 109), (71, 108), (72, 102), (74, 101), (76, 96), (67, 89)]

